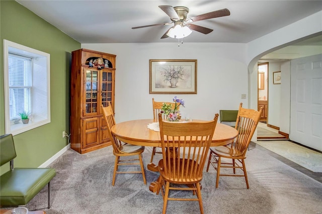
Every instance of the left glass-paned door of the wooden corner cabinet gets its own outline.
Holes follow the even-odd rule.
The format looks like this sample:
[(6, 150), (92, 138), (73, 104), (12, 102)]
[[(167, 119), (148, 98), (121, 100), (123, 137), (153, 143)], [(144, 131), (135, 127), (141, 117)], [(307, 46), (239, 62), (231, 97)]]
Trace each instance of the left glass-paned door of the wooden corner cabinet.
[(98, 110), (98, 71), (86, 69), (86, 82), (85, 82), (85, 90), (86, 90), (86, 103), (85, 103), (85, 115), (95, 115)]

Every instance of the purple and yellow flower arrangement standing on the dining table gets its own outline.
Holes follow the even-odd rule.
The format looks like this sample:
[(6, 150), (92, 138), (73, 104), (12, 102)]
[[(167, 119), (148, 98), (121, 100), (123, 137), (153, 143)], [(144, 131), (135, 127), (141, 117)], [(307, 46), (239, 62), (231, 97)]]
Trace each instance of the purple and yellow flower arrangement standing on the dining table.
[(175, 96), (173, 101), (175, 102), (174, 108), (172, 108), (171, 103), (170, 104), (164, 103), (161, 107), (160, 113), (163, 113), (164, 115), (166, 115), (169, 121), (179, 121), (181, 119), (181, 115), (178, 109), (180, 105), (185, 107), (185, 101), (183, 99), (177, 98), (177, 96)]

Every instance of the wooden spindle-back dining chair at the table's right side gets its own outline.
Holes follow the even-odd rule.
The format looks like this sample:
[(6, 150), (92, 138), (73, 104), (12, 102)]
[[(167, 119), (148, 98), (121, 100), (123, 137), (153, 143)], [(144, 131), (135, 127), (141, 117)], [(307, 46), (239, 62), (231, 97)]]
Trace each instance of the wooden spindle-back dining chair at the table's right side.
[[(238, 135), (235, 138), (234, 142), (227, 146), (210, 148), (207, 172), (209, 170), (210, 164), (217, 171), (216, 188), (218, 188), (219, 176), (245, 177), (247, 188), (250, 188), (245, 166), (246, 152), (257, 127), (258, 121), (260, 120), (263, 108), (261, 108), (260, 111), (256, 111), (253, 109), (243, 108), (242, 105), (243, 103), (240, 103), (239, 105), (235, 125), (235, 128), (238, 130)], [(230, 159), (231, 162), (222, 162), (222, 158)], [(221, 168), (232, 168), (233, 174), (221, 174)], [(236, 174), (236, 169), (240, 169), (243, 174)]]

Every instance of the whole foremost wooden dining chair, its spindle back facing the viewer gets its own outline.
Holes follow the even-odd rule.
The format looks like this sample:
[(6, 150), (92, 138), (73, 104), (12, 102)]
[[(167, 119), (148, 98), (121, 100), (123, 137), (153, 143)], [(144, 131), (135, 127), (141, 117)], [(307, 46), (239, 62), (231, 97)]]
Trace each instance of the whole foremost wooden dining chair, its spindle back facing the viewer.
[[(163, 156), (158, 162), (158, 185), (164, 199), (163, 213), (166, 213), (168, 200), (199, 201), (200, 213), (204, 213), (200, 182), (218, 116), (215, 114), (211, 121), (174, 123), (163, 121), (158, 114)], [(189, 190), (197, 197), (169, 197), (170, 190)]]

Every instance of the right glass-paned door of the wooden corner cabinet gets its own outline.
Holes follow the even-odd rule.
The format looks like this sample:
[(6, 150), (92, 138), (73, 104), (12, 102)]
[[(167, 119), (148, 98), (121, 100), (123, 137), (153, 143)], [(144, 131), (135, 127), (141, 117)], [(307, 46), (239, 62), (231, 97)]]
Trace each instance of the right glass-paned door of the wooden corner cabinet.
[(109, 70), (102, 70), (102, 104), (107, 106), (107, 102), (112, 102), (112, 72)]

